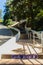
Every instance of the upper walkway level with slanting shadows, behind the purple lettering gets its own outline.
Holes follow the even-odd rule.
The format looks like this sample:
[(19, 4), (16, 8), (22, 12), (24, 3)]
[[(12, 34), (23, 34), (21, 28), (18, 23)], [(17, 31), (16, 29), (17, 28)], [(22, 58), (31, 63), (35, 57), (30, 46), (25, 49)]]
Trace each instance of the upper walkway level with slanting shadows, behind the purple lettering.
[[(11, 55), (18, 55), (18, 54), (38, 54), (40, 55), (42, 53), (42, 48), (40, 48), (41, 44), (35, 44), (35, 47), (33, 47), (33, 44), (29, 40), (19, 40), (16, 44), (14, 43), (14, 49), (10, 52), (7, 52), (7, 54), (3, 54), (2, 58), (11, 58)], [(39, 57), (38, 57), (39, 58)], [(40, 55), (41, 59), (41, 55)]]

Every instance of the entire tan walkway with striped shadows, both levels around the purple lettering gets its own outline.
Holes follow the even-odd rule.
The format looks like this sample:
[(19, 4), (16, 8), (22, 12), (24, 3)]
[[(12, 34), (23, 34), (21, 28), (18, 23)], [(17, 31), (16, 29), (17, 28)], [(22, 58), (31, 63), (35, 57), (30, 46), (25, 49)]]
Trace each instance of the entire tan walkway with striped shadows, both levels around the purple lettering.
[(23, 48), (22, 47), (17, 47), (16, 49), (14, 49), (13, 51), (9, 52), (8, 54), (5, 54), (2, 56), (2, 58), (4, 58), (4, 60), (0, 60), (0, 64), (17, 64), (17, 65), (43, 65), (43, 58), (42, 57), (38, 57), (37, 59), (11, 59), (12, 55), (18, 55), (18, 54), (38, 54), (41, 53), (41, 49), (39, 48), (34, 48), (30, 45), (30, 41), (29, 40), (19, 40), (16, 43), (16, 47), (18, 45), (24, 45)]

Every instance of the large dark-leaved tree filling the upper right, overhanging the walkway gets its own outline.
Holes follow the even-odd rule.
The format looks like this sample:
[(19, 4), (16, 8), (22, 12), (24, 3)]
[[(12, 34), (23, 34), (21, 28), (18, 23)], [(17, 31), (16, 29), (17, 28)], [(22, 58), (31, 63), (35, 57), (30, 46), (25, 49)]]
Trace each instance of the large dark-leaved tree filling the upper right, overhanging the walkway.
[(17, 20), (27, 19), (27, 26), (38, 29), (38, 23), (43, 18), (42, 0), (13, 0), (11, 5)]

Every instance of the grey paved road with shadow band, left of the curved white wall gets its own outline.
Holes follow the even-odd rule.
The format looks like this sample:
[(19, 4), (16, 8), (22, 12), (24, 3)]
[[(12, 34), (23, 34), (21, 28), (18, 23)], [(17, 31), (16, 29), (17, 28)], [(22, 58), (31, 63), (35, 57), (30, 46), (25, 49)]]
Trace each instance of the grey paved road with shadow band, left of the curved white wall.
[(6, 26), (0, 24), (0, 45), (12, 37), (12, 32)]

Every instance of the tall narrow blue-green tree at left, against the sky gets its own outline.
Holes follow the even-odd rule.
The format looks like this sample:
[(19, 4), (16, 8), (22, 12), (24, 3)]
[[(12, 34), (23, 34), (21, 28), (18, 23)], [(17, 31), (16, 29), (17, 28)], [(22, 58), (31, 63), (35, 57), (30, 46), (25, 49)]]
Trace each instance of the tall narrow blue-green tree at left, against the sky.
[(10, 7), (9, 4), (11, 3), (12, 0), (6, 0), (6, 4), (5, 4), (5, 15), (4, 15), (4, 20), (3, 20), (3, 24), (7, 24), (7, 20), (11, 18), (11, 13), (10, 13)]

